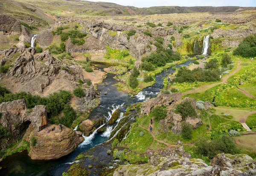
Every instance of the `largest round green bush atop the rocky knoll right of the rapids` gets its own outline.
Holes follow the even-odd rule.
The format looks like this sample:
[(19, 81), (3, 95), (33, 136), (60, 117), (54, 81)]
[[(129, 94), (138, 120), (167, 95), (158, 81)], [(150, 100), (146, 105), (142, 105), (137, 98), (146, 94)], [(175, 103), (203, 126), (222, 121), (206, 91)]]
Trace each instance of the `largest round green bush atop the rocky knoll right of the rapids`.
[(178, 104), (176, 111), (181, 114), (183, 119), (187, 117), (197, 117), (197, 113), (190, 101), (183, 101), (182, 103)]

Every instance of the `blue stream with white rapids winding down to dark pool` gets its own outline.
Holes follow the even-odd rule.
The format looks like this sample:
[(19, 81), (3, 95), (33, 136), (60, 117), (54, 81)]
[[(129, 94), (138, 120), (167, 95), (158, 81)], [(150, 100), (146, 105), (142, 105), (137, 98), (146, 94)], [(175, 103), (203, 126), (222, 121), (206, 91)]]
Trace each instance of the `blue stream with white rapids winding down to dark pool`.
[[(180, 65), (176, 65), (176, 67), (186, 66), (192, 62), (193, 60), (189, 60)], [(104, 65), (99, 64), (98, 68), (103, 69)], [(115, 75), (108, 74), (108, 77), (102, 81), (102, 84), (98, 85), (98, 90), (101, 92), (100, 104), (90, 113), (89, 119), (92, 117), (105, 117), (106, 121), (108, 121), (116, 109), (120, 108), (124, 113), (129, 105), (154, 98), (159, 93), (160, 89), (163, 89), (163, 78), (167, 77), (172, 72), (175, 72), (175, 70), (172, 70), (172, 67), (163, 70), (163, 72), (156, 75), (156, 83), (154, 85), (146, 87), (135, 96), (130, 96), (125, 92), (116, 90), (114, 84), (116, 84), (117, 81), (113, 78)], [(104, 95), (105, 91), (108, 92), (108, 95)], [(120, 118), (122, 118), (123, 113), (121, 113)], [(76, 150), (60, 159), (32, 160), (26, 151), (8, 156), (0, 162), (0, 167), (2, 167), (0, 175), (62, 176), (62, 173), (70, 167), (70, 164), (73, 163), (76, 156), (107, 141), (118, 121), (109, 126), (108, 130), (104, 133), (97, 133), (97, 130), (95, 130), (90, 136), (84, 137), (85, 140), (79, 144)], [(103, 125), (104, 124), (102, 124), (102, 126)]]

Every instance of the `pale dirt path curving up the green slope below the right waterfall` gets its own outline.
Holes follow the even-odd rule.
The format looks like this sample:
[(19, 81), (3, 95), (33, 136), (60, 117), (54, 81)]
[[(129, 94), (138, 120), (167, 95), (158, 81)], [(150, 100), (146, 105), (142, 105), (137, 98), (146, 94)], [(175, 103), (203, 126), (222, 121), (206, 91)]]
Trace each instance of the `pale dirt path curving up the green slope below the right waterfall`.
[(219, 84), (228, 84), (227, 82), (227, 79), (230, 78), (230, 76), (236, 74), (236, 72), (238, 72), (241, 68), (241, 61), (238, 61), (238, 64), (237, 64), (237, 67), (235, 70), (233, 70), (233, 72), (231, 72), (229, 75), (225, 76), (222, 78), (222, 82), (218, 82), (218, 83), (213, 83), (213, 84), (207, 84), (207, 85), (204, 85), (204, 86), (201, 86), (201, 87), (198, 87), (196, 89), (192, 89), (192, 90), (189, 90), (187, 92), (183, 92), (182, 95), (187, 95), (187, 94), (191, 94), (191, 93), (198, 93), (198, 92), (203, 92), (207, 89), (210, 89), (212, 87), (215, 87)]

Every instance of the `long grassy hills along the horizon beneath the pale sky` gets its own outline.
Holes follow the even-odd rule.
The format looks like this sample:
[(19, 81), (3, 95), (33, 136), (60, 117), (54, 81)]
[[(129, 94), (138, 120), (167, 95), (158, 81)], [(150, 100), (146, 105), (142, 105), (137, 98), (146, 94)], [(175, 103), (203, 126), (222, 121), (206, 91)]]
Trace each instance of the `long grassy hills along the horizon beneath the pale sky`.
[(146, 14), (196, 13), (196, 12), (240, 12), (256, 10), (256, 7), (238, 6), (159, 6), (137, 8), (115, 3), (90, 2), (83, 0), (0, 0), (0, 13), (14, 16), (29, 24), (45, 26), (55, 16), (124, 16)]

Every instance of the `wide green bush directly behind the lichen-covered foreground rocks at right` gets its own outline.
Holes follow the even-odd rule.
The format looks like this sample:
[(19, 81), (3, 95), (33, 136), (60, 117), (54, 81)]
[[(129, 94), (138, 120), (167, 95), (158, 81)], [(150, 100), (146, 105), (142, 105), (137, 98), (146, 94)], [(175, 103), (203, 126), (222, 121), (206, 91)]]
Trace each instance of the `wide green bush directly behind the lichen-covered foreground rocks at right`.
[(238, 153), (236, 144), (233, 141), (233, 138), (230, 138), (229, 136), (222, 136), (218, 140), (200, 140), (195, 144), (196, 152), (207, 156), (209, 159), (214, 158), (218, 153), (230, 153), (230, 154), (236, 154)]

